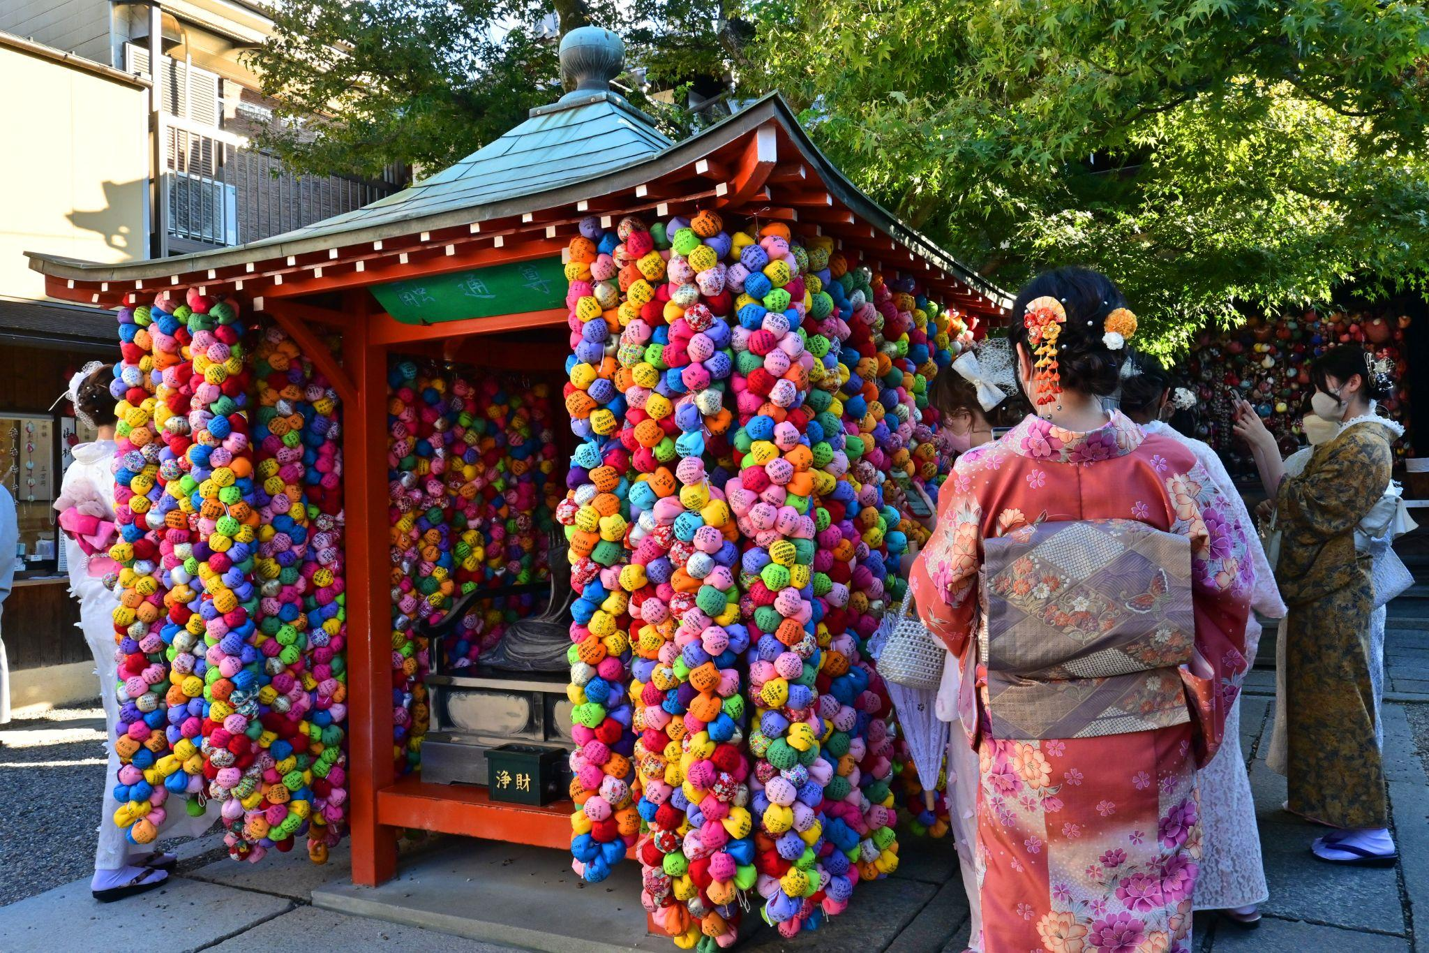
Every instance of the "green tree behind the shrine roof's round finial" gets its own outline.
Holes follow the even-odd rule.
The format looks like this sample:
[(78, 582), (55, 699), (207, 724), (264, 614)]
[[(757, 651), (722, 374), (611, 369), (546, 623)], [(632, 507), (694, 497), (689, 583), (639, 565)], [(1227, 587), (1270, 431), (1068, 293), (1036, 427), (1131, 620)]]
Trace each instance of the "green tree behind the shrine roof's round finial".
[(622, 33), (639, 69), (620, 89), (683, 137), (702, 123), (684, 93), (725, 84), (735, 41), (722, 10), (694, 0), (289, 0), (272, 16), (247, 54), (277, 103), (259, 144), (323, 176), (430, 173), (476, 151), (560, 96), (557, 39), (592, 23)]

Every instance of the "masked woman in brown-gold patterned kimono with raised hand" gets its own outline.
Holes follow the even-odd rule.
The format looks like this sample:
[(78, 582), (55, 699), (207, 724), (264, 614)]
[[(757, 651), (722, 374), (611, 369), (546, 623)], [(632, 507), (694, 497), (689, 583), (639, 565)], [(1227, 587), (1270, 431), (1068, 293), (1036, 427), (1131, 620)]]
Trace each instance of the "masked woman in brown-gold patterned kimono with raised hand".
[(1286, 614), (1285, 714), (1289, 742), (1286, 807), (1338, 830), (1310, 850), (1340, 864), (1388, 866), (1385, 769), (1375, 744), (1369, 623), (1372, 556), (1355, 549), (1355, 527), (1389, 486), (1398, 433), (1372, 416), (1380, 394), (1366, 351), (1325, 351), (1312, 371), (1315, 413), (1345, 426), (1288, 477), (1273, 434), (1249, 406), (1235, 430), (1250, 444), (1280, 529), (1276, 577)]

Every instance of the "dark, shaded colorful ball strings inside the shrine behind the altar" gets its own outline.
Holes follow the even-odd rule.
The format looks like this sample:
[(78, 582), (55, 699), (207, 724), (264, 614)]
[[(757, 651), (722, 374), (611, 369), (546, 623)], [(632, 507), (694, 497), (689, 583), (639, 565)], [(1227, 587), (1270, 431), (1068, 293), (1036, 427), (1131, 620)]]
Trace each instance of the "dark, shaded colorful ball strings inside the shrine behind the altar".
[[(440, 622), (473, 590), (549, 579), (553, 476), (552, 396), (544, 383), (434, 361), (396, 360), (387, 376), (387, 479), (392, 527), (393, 759), (420, 763), (430, 710), (423, 679), (430, 646), (417, 623)], [(462, 619), (443, 646), (463, 669), (537, 594), (490, 600)]]

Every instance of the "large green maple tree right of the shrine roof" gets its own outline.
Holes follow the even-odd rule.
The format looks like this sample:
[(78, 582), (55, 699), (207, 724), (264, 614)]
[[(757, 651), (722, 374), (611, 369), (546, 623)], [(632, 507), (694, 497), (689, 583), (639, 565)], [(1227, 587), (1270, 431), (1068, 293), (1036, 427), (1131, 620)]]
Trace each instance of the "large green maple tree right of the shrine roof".
[(743, 56), (875, 197), (1007, 287), (1080, 263), (1175, 351), (1420, 286), (1429, 14), (1373, 0), (765, 0)]

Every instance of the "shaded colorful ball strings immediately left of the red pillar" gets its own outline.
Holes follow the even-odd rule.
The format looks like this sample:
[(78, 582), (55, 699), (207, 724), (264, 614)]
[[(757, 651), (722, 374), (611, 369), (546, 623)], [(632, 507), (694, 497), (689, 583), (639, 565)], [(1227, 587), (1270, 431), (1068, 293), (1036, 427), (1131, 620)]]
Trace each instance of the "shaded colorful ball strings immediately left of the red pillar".
[[(340, 836), (346, 800), (344, 609), (333, 537), (342, 520), (337, 404), (277, 327), (263, 331), (256, 370), (262, 523), (254, 644), (270, 676), (256, 700), (266, 753), (257, 759), (263, 770), (254, 790), (239, 807), (226, 803), (224, 817), (233, 814), (230, 834), (240, 856), (252, 846), (287, 850), (292, 834), (306, 832), (309, 856), (322, 862)], [(286, 816), (279, 810), (284, 806)]]

